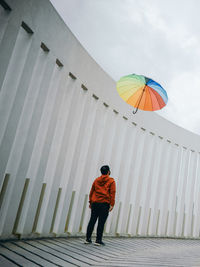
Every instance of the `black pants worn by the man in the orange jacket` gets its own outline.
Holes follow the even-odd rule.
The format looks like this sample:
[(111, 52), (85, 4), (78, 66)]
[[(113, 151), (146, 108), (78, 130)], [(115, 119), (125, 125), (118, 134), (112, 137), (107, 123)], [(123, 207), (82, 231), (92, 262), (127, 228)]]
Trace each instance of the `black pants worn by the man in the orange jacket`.
[(91, 217), (87, 227), (86, 238), (91, 239), (95, 223), (98, 219), (97, 238), (96, 240), (102, 241), (103, 229), (106, 219), (108, 217), (110, 205), (108, 203), (92, 203)]

